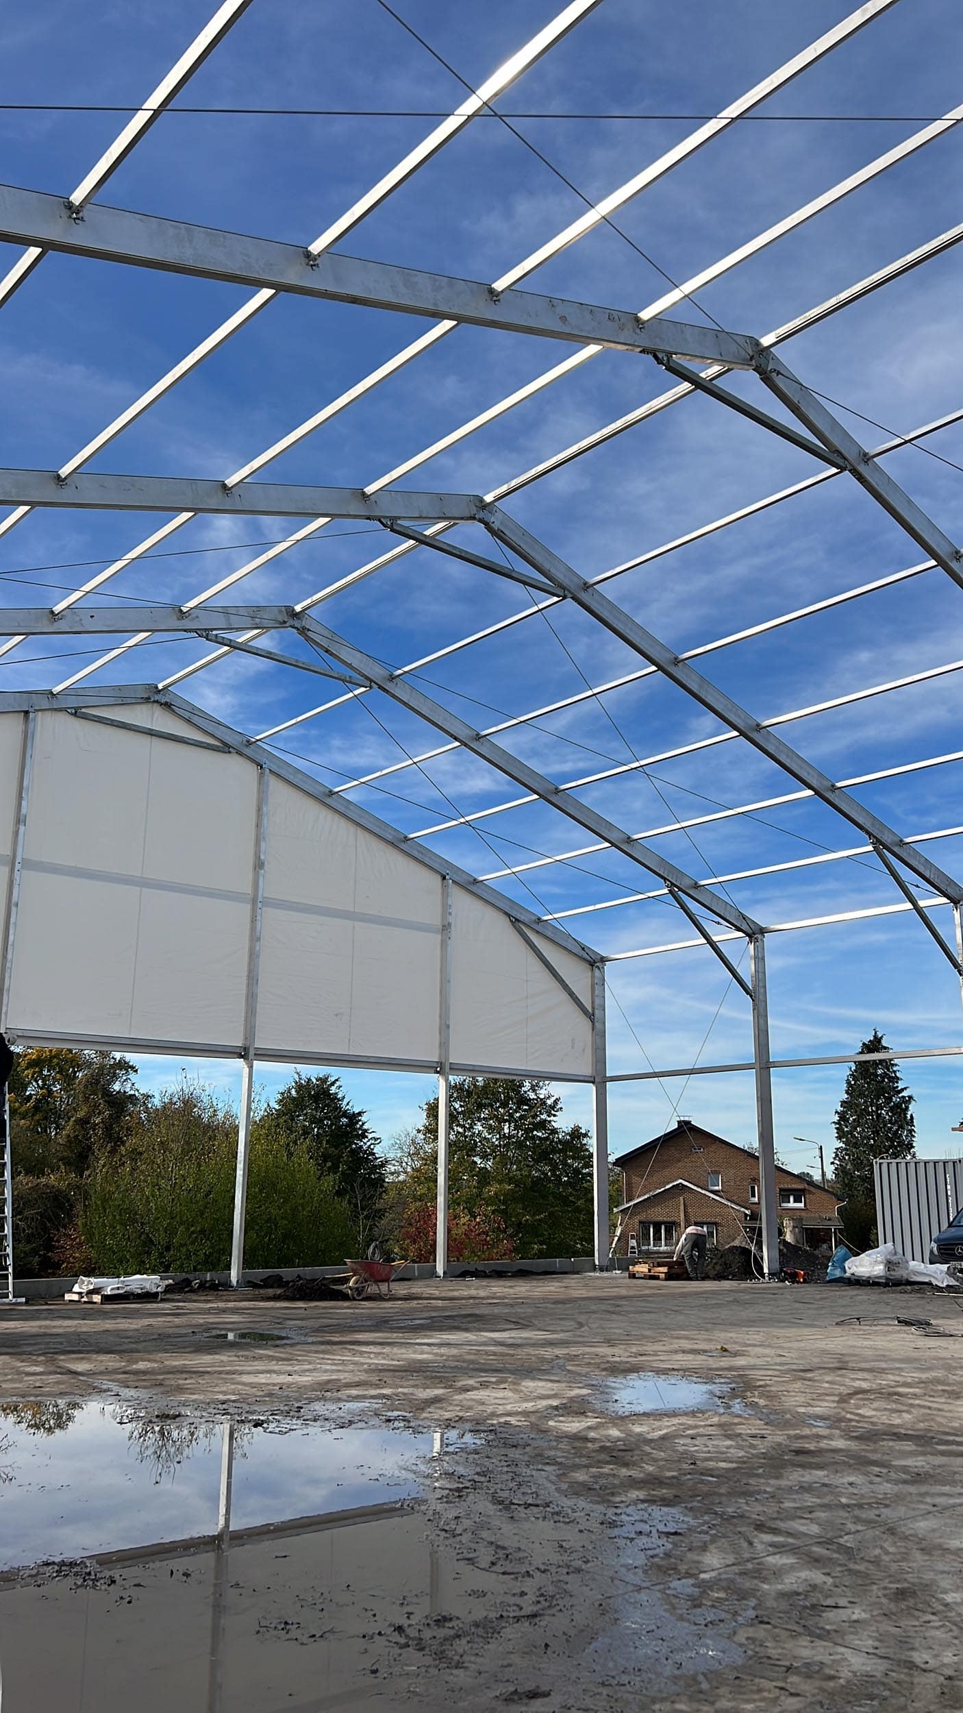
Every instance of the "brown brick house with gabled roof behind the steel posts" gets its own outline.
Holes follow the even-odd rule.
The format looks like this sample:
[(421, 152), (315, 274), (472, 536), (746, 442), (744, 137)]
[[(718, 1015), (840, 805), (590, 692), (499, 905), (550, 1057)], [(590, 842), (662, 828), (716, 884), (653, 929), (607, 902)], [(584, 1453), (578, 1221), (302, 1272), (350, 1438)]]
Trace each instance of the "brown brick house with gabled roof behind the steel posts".
[[(613, 1165), (622, 1172), (617, 1254), (665, 1254), (687, 1225), (704, 1225), (709, 1244), (744, 1244), (759, 1228), (759, 1160), (692, 1119), (653, 1136)], [(776, 1167), (783, 1235), (807, 1249), (833, 1249), (840, 1232), (838, 1196), (797, 1172)]]

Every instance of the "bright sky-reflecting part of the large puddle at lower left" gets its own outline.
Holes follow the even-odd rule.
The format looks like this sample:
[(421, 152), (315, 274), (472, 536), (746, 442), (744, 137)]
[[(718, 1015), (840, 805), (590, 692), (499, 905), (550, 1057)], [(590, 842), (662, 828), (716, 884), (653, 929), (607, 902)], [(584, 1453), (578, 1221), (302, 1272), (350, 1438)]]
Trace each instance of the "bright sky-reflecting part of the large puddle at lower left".
[[(449, 1435), (451, 1442), (452, 1435)], [(435, 1437), (410, 1427), (230, 1427), (96, 1403), (0, 1410), (0, 1569), (398, 1502)]]

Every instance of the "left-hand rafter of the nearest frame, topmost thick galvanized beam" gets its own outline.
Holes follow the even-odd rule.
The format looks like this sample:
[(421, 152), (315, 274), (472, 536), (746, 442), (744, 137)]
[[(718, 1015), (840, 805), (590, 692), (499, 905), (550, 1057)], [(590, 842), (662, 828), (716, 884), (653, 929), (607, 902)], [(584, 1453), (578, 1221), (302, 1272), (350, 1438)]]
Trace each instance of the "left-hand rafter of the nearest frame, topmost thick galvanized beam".
[(0, 240), (24, 238), (46, 250), (99, 262), (269, 286), (276, 293), (430, 319), (440, 315), (475, 327), (596, 344), (600, 349), (691, 356), (727, 363), (730, 368), (751, 368), (757, 355), (754, 339), (718, 327), (658, 317), (641, 320), (634, 310), (548, 298), (535, 291), (493, 291), (478, 279), (427, 274), (353, 255), (315, 255), (303, 245), (250, 238), (212, 226), (188, 226), (154, 214), (93, 204), (82, 221), (77, 221), (63, 197), (0, 185)]

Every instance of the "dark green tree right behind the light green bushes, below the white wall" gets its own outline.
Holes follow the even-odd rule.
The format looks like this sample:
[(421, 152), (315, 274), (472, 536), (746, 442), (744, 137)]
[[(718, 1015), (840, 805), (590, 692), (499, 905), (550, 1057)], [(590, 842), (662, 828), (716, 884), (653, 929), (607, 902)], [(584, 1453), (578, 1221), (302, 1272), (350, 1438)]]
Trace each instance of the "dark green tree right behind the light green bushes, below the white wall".
[(350, 1211), (363, 1252), (380, 1221), (387, 1173), (365, 1113), (351, 1107), (338, 1077), (298, 1071), (252, 1129), (255, 1139), (271, 1137), (286, 1153), (307, 1153)]

